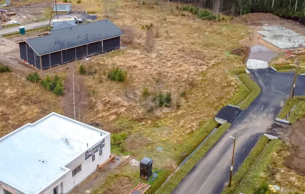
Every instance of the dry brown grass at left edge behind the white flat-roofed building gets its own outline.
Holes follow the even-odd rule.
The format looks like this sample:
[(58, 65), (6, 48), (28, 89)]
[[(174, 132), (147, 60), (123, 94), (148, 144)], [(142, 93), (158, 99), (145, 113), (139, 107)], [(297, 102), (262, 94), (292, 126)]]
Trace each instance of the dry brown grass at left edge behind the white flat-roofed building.
[(0, 99), (0, 137), (51, 112), (61, 112), (53, 93), (11, 73), (0, 74)]

